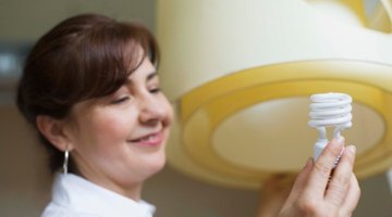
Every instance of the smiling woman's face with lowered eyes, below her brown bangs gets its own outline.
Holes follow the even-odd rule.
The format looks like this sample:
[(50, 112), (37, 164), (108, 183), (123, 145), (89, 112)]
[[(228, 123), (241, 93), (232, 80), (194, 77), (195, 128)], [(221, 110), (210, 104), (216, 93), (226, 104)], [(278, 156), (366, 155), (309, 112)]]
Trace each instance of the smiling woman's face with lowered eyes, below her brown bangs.
[(114, 93), (77, 103), (66, 133), (88, 180), (120, 193), (139, 188), (166, 162), (172, 107), (148, 59)]

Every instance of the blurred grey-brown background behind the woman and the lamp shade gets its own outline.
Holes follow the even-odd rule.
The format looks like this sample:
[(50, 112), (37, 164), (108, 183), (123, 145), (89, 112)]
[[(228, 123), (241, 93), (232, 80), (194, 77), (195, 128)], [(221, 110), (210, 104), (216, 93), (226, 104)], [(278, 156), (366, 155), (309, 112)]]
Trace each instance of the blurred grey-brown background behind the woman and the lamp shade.
[[(375, 2), (365, 1), (369, 7)], [(45, 150), (14, 106), (14, 87), (23, 59), (38, 37), (83, 12), (136, 21), (157, 30), (156, 0), (0, 0), (0, 216), (39, 216), (50, 199)], [(392, 216), (388, 173), (360, 180), (360, 187), (354, 216)], [(204, 182), (170, 164), (144, 189), (144, 200), (158, 207), (157, 217), (254, 216), (259, 194), (255, 189)]]

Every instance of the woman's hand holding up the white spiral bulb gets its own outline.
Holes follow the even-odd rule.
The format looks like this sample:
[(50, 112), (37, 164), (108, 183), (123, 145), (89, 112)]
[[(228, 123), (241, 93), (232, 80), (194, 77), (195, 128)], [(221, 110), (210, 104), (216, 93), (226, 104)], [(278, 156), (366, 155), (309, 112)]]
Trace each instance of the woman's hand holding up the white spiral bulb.
[[(316, 163), (309, 158), (297, 176), (279, 217), (348, 217), (360, 189), (353, 174), (355, 146), (332, 140)], [(338, 166), (336, 157), (341, 155)]]

